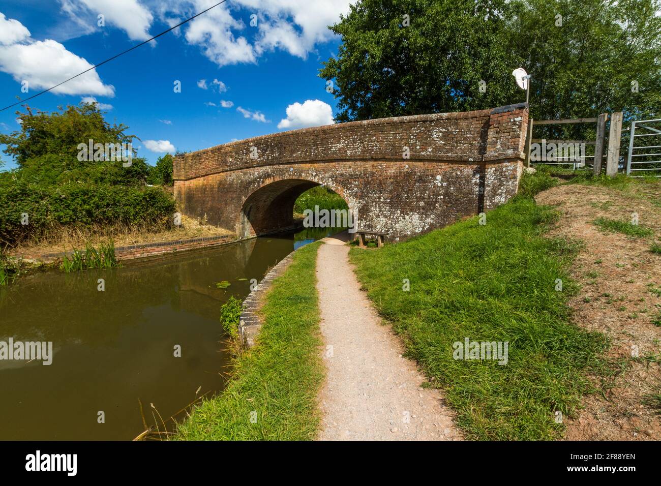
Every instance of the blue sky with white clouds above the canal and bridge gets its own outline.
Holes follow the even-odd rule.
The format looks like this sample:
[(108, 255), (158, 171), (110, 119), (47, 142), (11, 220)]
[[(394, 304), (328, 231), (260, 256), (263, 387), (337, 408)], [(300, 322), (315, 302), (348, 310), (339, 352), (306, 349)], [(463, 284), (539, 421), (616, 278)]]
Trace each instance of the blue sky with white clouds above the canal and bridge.
[[(217, 0), (4, 0), (0, 108), (214, 3)], [(106, 109), (106, 120), (128, 125), (128, 133), (142, 140), (134, 147), (149, 163), (173, 147), (191, 151), (327, 124), (336, 102), (317, 74), (339, 43), (326, 26), (346, 11), (348, 0), (228, 0), (161, 36), (155, 45), (141, 46), (63, 85), (60, 93), (46, 93), (28, 104), (56, 110), (94, 97), (102, 107), (112, 106)], [(105, 26), (97, 26), (98, 15), (104, 15)], [(256, 15), (256, 26), (250, 25), (251, 15)], [(23, 80), (29, 93), (21, 93)], [(175, 81), (181, 82), (180, 93), (173, 89)], [(0, 132), (20, 128), (17, 108), (22, 109), (0, 112)], [(0, 170), (15, 167), (8, 155), (1, 154), (1, 159)]]

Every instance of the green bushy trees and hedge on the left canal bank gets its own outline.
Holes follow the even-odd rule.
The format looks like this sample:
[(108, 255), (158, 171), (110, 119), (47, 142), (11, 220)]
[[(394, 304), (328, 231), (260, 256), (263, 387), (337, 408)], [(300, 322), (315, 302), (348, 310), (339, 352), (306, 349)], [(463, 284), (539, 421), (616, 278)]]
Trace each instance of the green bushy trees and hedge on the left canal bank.
[[(151, 167), (145, 159), (94, 161), (78, 145), (132, 143), (128, 127), (108, 124), (96, 104), (41, 112), (27, 107), (21, 129), (0, 135), (5, 153), (19, 167), (0, 173), (0, 245), (42, 241), (58, 227), (120, 225), (169, 227), (175, 200), (161, 188), (146, 187)], [(167, 173), (167, 163), (161, 163)], [(170, 171), (171, 175), (171, 171)], [(29, 216), (29, 224), (22, 222)]]

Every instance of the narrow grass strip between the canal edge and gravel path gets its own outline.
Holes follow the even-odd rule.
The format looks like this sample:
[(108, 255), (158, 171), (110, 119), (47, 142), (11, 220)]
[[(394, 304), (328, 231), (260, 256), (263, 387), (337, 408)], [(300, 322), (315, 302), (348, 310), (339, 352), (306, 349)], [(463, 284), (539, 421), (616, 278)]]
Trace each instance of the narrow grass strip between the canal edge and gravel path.
[(235, 358), (225, 390), (196, 406), (175, 439), (315, 438), (324, 376), (315, 277), (320, 244), (294, 253), (293, 263), (266, 295), (258, 343)]

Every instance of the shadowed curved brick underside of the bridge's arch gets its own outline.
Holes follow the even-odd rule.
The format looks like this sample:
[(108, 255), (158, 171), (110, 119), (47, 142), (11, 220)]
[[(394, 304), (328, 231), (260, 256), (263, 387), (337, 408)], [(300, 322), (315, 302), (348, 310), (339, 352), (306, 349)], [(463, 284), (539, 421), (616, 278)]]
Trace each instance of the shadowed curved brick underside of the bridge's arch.
[(319, 185), (305, 179), (284, 179), (257, 189), (243, 203), (239, 236), (247, 238), (293, 228), (293, 205), (298, 196)]

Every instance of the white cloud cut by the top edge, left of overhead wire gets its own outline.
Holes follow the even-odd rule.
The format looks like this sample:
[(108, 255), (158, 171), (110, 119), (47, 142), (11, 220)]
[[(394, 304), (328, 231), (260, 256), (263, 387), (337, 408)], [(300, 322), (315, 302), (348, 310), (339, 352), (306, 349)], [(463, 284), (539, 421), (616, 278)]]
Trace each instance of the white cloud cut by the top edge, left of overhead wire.
[[(154, 17), (137, 0), (60, 0), (62, 10), (87, 34), (97, 28), (97, 16), (106, 26), (124, 30), (131, 40), (147, 40)], [(101, 27), (102, 28), (102, 27)]]

